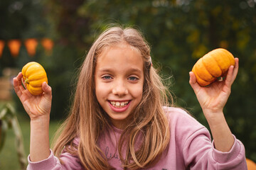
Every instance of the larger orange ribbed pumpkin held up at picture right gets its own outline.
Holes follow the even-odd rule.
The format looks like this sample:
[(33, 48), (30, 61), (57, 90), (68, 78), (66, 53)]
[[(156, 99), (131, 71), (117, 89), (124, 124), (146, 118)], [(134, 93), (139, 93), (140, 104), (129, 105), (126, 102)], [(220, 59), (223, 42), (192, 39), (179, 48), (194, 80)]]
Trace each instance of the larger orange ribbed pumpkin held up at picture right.
[(228, 50), (218, 48), (201, 57), (193, 66), (192, 72), (200, 86), (207, 86), (218, 77), (225, 77), (231, 65), (235, 65), (233, 55)]

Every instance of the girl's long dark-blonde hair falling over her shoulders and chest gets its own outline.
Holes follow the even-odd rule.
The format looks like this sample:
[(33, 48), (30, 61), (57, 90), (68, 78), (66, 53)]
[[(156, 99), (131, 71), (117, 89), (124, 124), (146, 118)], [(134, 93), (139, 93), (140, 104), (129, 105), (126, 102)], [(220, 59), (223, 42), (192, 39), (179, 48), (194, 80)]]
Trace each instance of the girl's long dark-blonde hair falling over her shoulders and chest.
[[(95, 65), (97, 57), (106, 47), (126, 42), (141, 52), (144, 61), (144, 87), (142, 101), (134, 111), (132, 123), (119, 138), (118, 152), (124, 169), (140, 169), (156, 163), (169, 145), (169, 120), (163, 106), (168, 106), (166, 88), (156, 69), (151, 66), (150, 47), (141, 33), (134, 28), (112, 27), (105, 30), (93, 43), (80, 67), (73, 106), (68, 119), (62, 125), (53, 152), (60, 157), (65, 148), (77, 155), (85, 169), (112, 169), (97, 146), (97, 140), (105, 128), (111, 127), (110, 118), (103, 111), (95, 96)], [(168, 91), (167, 91), (168, 92)], [(143, 134), (139, 149), (135, 142)], [(79, 137), (79, 145), (73, 140)], [(121, 148), (126, 145), (125, 157)]]

